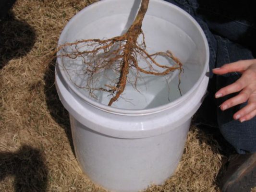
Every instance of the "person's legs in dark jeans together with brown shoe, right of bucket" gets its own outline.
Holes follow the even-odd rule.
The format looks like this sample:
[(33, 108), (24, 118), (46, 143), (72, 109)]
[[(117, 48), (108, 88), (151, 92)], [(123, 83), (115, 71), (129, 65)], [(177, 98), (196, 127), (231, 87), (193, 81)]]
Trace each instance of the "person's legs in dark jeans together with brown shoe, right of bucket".
[[(250, 40), (251, 43), (254, 43), (253, 39), (256, 39), (256, 28), (246, 23), (247, 21), (243, 19), (236, 21), (235, 18), (231, 18), (239, 14), (222, 15), (222, 13), (228, 13), (218, 10), (221, 7), (222, 1), (219, 2), (220, 4), (216, 0), (167, 1), (178, 5), (190, 13), (201, 25), (210, 47), (210, 70), (221, 67), (226, 63), (254, 58), (255, 50), (251, 49), (253, 46), (250, 46)], [(217, 6), (214, 7), (214, 5)], [(239, 6), (236, 6), (236, 8), (240, 8), (240, 11), (242, 9)], [(221, 20), (221, 16), (223, 20)], [(242, 16), (244, 15), (242, 14)], [(243, 46), (238, 43), (243, 44)], [(211, 73), (208, 86), (209, 94), (199, 109), (199, 112), (201, 111), (200, 114), (204, 114), (201, 118), (201, 120), (204, 120), (203, 123), (211, 126), (217, 125), (224, 138), (232, 144), (239, 154), (252, 153), (250, 155), (238, 155), (229, 161), (230, 166), (220, 186), (223, 192), (247, 192), (256, 186), (256, 118), (243, 123), (233, 120), (233, 114), (239, 108), (244, 107), (246, 103), (221, 111), (218, 106), (230, 96), (219, 99), (214, 98), (217, 90), (232, 84), (240, 76), (240, 74), (235, 72), (222, 76), (216, 76)], [(212, 108), (209, 108), (209, 104)], [(217, 123), (212, 118), (209, 119), (207, 117), (209, 116), (209, 110), (217, 113)]]

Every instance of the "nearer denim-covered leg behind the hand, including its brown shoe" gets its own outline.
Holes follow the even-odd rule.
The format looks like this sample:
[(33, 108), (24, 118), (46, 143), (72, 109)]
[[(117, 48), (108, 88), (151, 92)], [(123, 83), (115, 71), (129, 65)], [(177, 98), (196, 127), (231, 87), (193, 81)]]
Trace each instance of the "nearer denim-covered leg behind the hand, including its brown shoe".
[[(216, 36), (218, 42), (217, 66), (237, 60), (253, 59), (252, 52), (230, 40)], [(216, 76), (217, 90), (232, 84), (239, 79), (241, 74), (233, 72)], [(214, 93), (213, 93), (214, 94)], [(234, 96), (225, 96), (217, 99), (219, 106), (226, 99)], [(234, 155), (230, 158), (228, 169), (221, 181), (222, 192), (247, 192), (256, 186), (256, 118), (241, 123), (233, 120), (233, 114), (246, 103), (228, 110), (217, 110), (218, 125), (221, 134), (235, 148), (237, 153), (254, 153), (250, 155)]]

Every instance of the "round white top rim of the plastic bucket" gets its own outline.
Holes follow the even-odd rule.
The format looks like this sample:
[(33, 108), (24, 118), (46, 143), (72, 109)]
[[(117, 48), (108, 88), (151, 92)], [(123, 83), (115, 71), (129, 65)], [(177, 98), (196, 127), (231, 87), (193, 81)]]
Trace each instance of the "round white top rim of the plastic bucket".
[[(60, 36), (59, 41), (58, 41), (58, 46), (60, 46), (61, 42), (63, 42), (63, 36), (69, 30), (70, 25), (73, 24), (73, 22), (75, 22), (75, 20), (77, 18), (79, 18), (80, 15), (82, 15), (84, 12), (86, 12), (88, 10), (95, 9), (98, 6), (104, 7), (104, 6), (106, 6), (106, 4), (108, 4), (110, 2), (115, 2), (115, 1), (117, 1), (117, 0), (101, 0), (101, 1), (95, 2), (95, 3), (85, 7), (83, 10), (78, 12), (76, 15), (74, 15), (73, 18), (66, 24), (66, 26), (62, 30), (61, 36)], [(206, 73), (208, 71), (208, 62), (209, 62), (209, 47), (208, 47), (208, 42), (207, 42), (206, 35), (205, 35), (204, 31), (202, 30), (201, 26), (196, 22), (196, 20), (189, 13), (185, 12), (180, 7), (174, 5), (170, 2), (164, 1), (164, 0), (150, 0), (150, 2), (152, 2), (152, 1), (154, 1), (155, 3), (163, 4), (165, 6), (169, 6), (171, 9), (175, 9), (176, 11), (185, 15), (195, 25), (195, 27), (197, 28), (197, 30), (199, 31), (200, 35), (203, 38), (204, 47), (205, 47), (205, 50), (206, 50), (206, 60), (205, 60), (205, 63), (204, 63), (204, 69), (203, 69), (202, 74), (200, 75), (200, 77), (198, 78), (196, 83), (189, 89), (189, 91), (187, 91), (185, 94), (183, 94), (179, 98), (171, 101), (170, 103), (160, 105), (160, 106), (154, 107), (154, 108), (147, 108), (147, 109), (124, 109), (124, 108), (115, 108), (115, 107), (110, 107), (110, 106), (104, 105), (102, 103), (99, 103), (98, 101), (95, 101), (95, 100), (91, 99), (90, 97), (87, 97), (87, 96), (83, 95), (72, 84), (69, 77), (65, 74), (65, 71), (60, 70), (62, 78), (64, 79), (64, 81), (68, 85), (68, 87), (72, 90), (72, 92), (76, 96), (78, 96), (80, 99), (82, 99), (83, 101), (85, 101), (89, 105), (93, 106), (94, 108), (98, 108), (99, 110), (102, 110), (102, 111), (105, 111), (105, 112), (108, 112), (108, 113), (128, 115), (128, 116), (134, 116), (134, 115), (138, 116), (138, 115), (148, 115), (148, 114), (158, 113), (158, 112), (164, 111), (168, 108), (172, 108), (173, 106), (179, 105), (181, 102), (183, 102), (184, 99), (186, 99), (191, 94), (193, 94), (195, 89), (199, 86), (200, 82), (206, 76)], [(62, 64), (62, 60), (61, 60), (60, 57), (58, 57), (58, 55), (59, 55), (59, 52), (57, 53), (57, 65), (60, 65), (60, 64)]]

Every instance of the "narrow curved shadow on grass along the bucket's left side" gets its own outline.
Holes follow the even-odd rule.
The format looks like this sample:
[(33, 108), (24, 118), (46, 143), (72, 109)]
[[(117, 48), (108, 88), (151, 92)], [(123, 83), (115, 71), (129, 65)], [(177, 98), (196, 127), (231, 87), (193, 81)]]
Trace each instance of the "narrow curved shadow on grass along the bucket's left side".
[(55, 88), (55, 61), (56, 60), (52, 60), (49, 63), (49, 68), (44, 75), (44, 92), (46, 96), (46, 103), (51, 117), (61, 126), (61, 128), (64, 129), (68, 137), (73, 154), (75, 154), (71, 134), (69, 113), (61, 104), (60, 98)]

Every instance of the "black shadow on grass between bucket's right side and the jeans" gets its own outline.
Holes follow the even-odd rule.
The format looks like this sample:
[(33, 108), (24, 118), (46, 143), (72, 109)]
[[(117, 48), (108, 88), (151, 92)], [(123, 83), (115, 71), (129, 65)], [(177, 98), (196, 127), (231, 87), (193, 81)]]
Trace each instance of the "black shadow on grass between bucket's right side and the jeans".
[(197, 136), (200, 143), (205, 143), (211, 147), (211, 151), (214, 154), (222, 156), (222, 167), (215, 179), (215, 184), (219, 187), (223, 173), (227, 168), (227, 161), (229, 156), (235, 153), (234, 148), (229, 144), (218, 128), (217, 122), (217, 106), (218, 103), (214, 97), (216, 90), (216, 76), (213, 76), (208, 83), (208, 95), (204, 99), (201, 107), (197, 110), (193, 123), (199, 129)]

